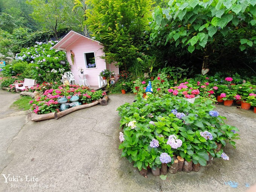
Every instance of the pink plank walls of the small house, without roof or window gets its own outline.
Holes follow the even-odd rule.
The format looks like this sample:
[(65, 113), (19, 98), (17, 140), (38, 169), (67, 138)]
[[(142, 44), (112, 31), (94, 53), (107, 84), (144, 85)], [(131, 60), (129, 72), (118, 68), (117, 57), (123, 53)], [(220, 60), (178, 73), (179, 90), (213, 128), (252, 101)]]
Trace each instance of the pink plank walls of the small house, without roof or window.
[[(78, 75), (81, 75), (78, 69), (79, 67), (82, 67), (82, 69), (84, 69), (84, 73), (86, 75), (86, 79), (88, 80), (89, 85), (98, 86), (99, 73), (102, 70), (107, 69), (105, 59), (101, 58), (101, 56), (104, 55), (104, 52), (102, 52), (102, 48), (103, 46), (100, 45), (98, 42), (83, 37), (80, 37), (78, 40), (66, 47), (67, 59), (70, 63), (71, 71), (75, 75), (75, 80), (77, 84), (79, 84)], [(75, 54), (74, 65), (72, 64), (70, 58), (70, 50), (72, 50)], [(94, 52), (96, 68), (86, 68), (85, 66), (84, 53), (89, 52)], [(116, 67), (114, 68), (114, 66), (111, 67), (111, 70), (118, 73), (118, 68), (116, 69)]]

